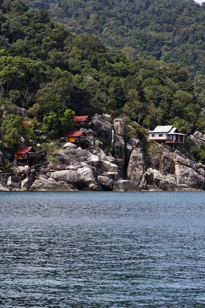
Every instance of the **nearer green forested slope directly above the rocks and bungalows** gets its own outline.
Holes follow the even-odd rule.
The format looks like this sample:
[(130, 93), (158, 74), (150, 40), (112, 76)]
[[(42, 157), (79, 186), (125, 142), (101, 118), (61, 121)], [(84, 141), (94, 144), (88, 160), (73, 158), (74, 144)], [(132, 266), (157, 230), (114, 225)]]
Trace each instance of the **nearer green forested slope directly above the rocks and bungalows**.
[[(197, 6), (196, 6), (197, 8)], [(176, 63), (107, 48), (93, 35), (74, 35), (20, 0), (0, 6), (0, 105), (2, 140), (31, 142), (32, 129), (18, 108), (43, 111), (37, 125), (64, 136), (74, 114), (114, 112), (146, 128), (174, 124), (186, 133), (205, 132), (202, 76)], [(29, 130), (30, 129), (30, 130)], [(6, 133), (6, 134), (5, 134)]]

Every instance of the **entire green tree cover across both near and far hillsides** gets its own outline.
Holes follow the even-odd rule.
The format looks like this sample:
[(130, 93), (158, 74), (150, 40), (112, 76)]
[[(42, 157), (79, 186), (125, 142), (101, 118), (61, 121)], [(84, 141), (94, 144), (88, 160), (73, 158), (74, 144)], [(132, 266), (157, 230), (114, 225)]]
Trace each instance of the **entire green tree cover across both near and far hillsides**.
[[(20, 136), (32, 144), (34, 125), (52, 138), (63, 137), (73, 129), (75, 114), (95, 112), (115, 112), (150, 129), (174, 124), (185, 133), (205, 132), (205, 78), (194, 68), (205, 70), (203, 6), (185, 0), (29, 4), (38, 11), (19, 0), (0, 4), (0, 125), (6, 146), (17, 147)], [(45, 8), (68, 27), (53, 22)], [(124, 52), (107, 48), (90, 34), (96, 31), (109, 45), (127, 44)], [(32, 126), (8, 118), (19, 114), (18, 107), (41, 111), (42, 118), (36, 116)], [(127, 129), (127, 135), (133, 132)]]

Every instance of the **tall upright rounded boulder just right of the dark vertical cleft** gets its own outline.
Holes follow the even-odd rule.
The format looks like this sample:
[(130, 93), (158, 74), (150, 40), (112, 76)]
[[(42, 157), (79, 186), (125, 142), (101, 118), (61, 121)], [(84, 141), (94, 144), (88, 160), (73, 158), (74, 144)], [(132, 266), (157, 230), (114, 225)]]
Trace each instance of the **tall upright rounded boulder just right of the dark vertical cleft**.
[(133, 149), (131, 152), (130, 161), (127, 168), (128, 180), (139, 184), (143, 173), (144, 173), (144, 158), (142, 155), (142, 149), (138, 147)]

